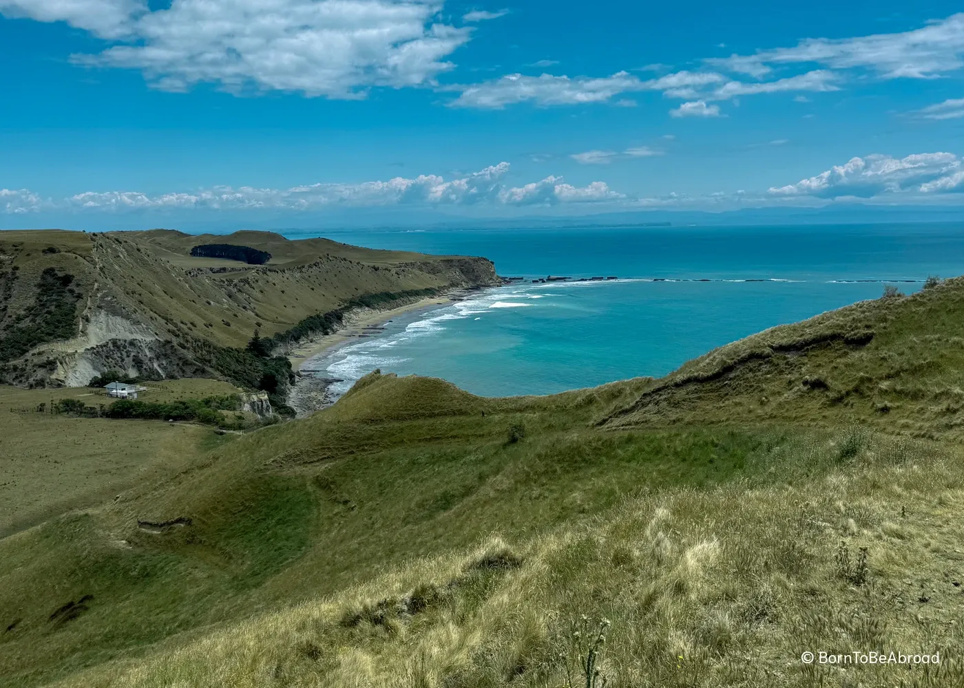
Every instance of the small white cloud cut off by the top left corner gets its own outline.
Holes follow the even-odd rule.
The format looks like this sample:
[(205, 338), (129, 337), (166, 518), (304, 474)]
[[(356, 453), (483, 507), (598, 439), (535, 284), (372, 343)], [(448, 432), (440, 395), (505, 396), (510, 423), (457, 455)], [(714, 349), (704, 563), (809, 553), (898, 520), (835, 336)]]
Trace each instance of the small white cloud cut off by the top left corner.
[(64, 21), (102, 39), (134, 33), (137, 17), (147, 12), (139, 0), (0, 0), (0, 13), (37, 21)]

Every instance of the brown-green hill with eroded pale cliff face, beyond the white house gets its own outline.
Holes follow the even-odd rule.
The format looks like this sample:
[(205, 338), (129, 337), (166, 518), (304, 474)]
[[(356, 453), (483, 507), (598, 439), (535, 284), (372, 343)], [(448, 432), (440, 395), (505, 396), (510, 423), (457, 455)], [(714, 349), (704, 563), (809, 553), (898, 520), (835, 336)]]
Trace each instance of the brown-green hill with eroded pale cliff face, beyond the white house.
[[(191, 255), (224, 243), (266, 265)], [(148, 378), (228, 377), (251, 368), (224, 349), (324, 314), (498, 283), (490, 261), (373, 251), (269, 232), (192, 236), (155, 229), (0, 234), (0, 382), (86, 384), (107, 370)], [(330, 318), (331, 321), (331, 318)], [(333, 321), (334, 322), (334, 321)], [(304, 329), (300, 331), (304, 333)], [(289, 337), (290, 338), (290, 337)]]

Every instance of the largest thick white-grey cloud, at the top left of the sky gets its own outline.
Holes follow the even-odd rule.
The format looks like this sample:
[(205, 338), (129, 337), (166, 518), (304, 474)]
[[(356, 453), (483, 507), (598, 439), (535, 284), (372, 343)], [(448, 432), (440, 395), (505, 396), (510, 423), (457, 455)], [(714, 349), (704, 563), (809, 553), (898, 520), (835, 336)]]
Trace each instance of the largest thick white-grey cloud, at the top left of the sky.
[[(100, 4), (109, 2), (120, 10), (102, 15)], [(0, 9), (15, 3), (40, 16), (49, 6), (49, 20), (120, 39), (73, 59), (140, 69), (168, 91), (211, 83), (231, 93), (358, 98), (372, 87), (423, 86), (453, 66), (446, 58), (471, 32), (438, 20), (442, 0), (174, 0), (154, 12), (134, 2), (0, 0)]]

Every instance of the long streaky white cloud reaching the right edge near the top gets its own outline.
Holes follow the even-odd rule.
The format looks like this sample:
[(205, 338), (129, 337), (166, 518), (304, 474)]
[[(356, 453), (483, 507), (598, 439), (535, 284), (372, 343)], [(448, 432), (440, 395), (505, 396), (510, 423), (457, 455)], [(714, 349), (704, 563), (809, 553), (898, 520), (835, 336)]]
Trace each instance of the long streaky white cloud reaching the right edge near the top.
[(756, 55), (714, 58), (710, 66), (757, 78), (773, 66), (816, 64), (832, 69), (864, 68), (885, 79), (932, 78), (964, 66), (964, 13), (920, 29), (850, 39), (807, 39), (791, 48)]

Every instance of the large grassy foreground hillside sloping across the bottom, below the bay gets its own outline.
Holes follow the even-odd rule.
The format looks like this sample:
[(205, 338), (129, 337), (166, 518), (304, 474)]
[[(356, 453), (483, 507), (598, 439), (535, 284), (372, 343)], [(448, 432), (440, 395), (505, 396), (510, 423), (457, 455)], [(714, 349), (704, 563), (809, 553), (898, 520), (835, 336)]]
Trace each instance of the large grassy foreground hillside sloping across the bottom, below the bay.
[(962, 299), (549, 397), (375, 373), (182, 441), (0, 540), (0, 686), (584, 686), (601, 629), (607, 686), (964, 684)]

